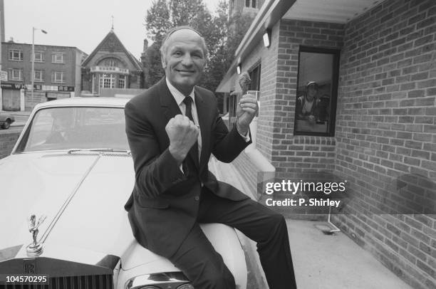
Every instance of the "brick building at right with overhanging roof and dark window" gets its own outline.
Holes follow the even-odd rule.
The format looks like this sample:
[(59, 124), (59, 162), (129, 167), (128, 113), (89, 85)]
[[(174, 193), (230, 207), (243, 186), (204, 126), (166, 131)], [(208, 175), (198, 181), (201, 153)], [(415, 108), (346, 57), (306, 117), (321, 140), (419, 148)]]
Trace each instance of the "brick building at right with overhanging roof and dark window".
[(217, 88), (230, 119), (237, 70), (259, 92), (234, 162), (251, 188), (259, 172), (346, 180), (333, 223), (412, 288), (436, 288), (435, 31), (431, 0), (265, 1)]

